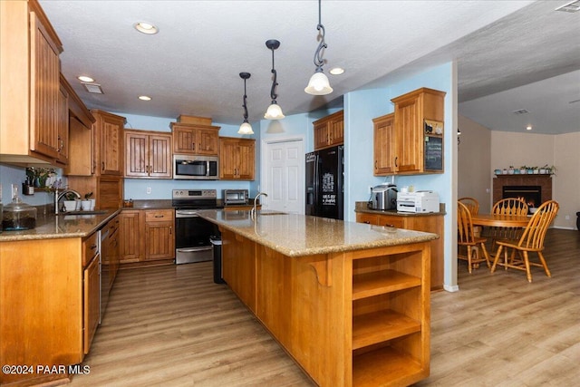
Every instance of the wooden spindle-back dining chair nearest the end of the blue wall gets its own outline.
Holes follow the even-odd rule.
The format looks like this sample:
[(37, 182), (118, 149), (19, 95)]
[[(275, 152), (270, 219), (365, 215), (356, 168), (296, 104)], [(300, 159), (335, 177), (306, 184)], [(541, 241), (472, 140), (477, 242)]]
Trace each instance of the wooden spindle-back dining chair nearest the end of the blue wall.
[[(471, 273), (472, 267), (478, 267), (479, 262), (486, 262), (489, 265), (488, 250), (486, 249), (486, 242), (488, 239), (485, 237), (475, 237), (473, 233), (473, 222), (471, 221), (471, 213), (469, 208), (461, 203), (457, 202), (457, 245), (458, 250), (462, 247), (467, 249), (466, 255), (459, 254), (457, 257), (459, 259), (468, 261), (468, 270)], [(483, 256), (481, 256), (483, 253)]]

